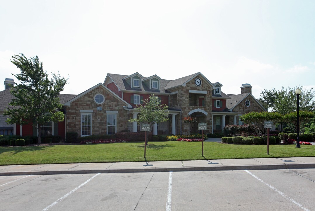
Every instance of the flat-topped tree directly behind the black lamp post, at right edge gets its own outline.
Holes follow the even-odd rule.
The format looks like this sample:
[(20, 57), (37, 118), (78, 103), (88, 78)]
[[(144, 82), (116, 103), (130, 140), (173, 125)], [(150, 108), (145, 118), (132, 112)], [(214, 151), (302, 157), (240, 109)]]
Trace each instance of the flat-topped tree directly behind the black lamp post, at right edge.
[[(312, 118), (315, 117), (314, 112), (307, 111), (299, 111), (299, 132), (300, 134), (304, 134), (305, 126), (307, 123), (310, 123)], [(287, 123), (292, 123), (294, 125), (295, 130), (297, 131), (297, 112), (291, 112), (283, 117), (284, 121)]]

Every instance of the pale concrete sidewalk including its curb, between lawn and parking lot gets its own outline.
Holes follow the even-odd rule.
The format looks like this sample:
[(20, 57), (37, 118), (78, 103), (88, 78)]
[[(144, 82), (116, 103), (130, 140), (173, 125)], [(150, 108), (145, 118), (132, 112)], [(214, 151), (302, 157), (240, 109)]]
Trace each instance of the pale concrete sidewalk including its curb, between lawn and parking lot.
[(315, 157), (0, 166), (0, 176), (315, 168)]

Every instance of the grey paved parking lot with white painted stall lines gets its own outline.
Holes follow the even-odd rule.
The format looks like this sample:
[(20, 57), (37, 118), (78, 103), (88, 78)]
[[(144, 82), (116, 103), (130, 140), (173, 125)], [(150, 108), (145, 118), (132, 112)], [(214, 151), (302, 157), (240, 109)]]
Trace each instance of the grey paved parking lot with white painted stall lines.
[(0, 210), (315, 210), (315, 169), (0, 177)]

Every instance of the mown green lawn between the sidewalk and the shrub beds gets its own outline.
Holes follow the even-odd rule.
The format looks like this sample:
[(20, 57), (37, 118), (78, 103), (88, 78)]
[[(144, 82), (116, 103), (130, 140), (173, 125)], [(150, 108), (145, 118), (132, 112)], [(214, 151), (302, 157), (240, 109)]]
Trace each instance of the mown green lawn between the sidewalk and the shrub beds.
[[(149, 142), (147, 161), (270, 157), (313, 157), (315, 146), (233, 145), (204, 142)], [(0, 147), (0, 165), (145, 161), (143, 142), (93, 145)]]

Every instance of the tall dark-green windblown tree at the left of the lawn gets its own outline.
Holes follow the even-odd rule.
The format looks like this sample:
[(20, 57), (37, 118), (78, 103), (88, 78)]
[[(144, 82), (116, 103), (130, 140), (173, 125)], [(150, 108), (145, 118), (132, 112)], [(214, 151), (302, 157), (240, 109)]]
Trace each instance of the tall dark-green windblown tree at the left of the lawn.
[(62, 108), (59, 103), (59, 94), (67, 84), (67, 79), (61, 78), (60, 74), (48, 74), (43, 70), (43, 63), (38, 57), (26, 58), (24, 54), (12, 56), (11, 62), (21, 70), (20, 74), (14, 75), (20, 84), (11, 88), (14, 99), (4, 115), (8, 115), (9, 124), (31, 124), (38, 130), (38, 143), (41, 143), (41, 126), (49, 121), (60, 122), (64, 114), (58, 109)]

